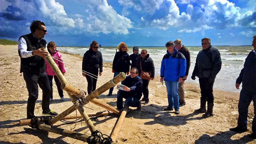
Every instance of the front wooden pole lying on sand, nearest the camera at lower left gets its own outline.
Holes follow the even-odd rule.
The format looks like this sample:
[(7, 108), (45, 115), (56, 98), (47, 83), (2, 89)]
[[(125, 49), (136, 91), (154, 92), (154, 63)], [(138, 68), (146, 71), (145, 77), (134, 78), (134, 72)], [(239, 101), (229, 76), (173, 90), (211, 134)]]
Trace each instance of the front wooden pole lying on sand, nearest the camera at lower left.
[[(73, 139), (76, 139), (76, 140), (85, 141), (85, 142), (89, 138), (89, 135), (85, 135), (85, 134), (82, 134), (82, 133), (73, 132), (73, 131), (53, 127), (53, 126), (50, 126), (50, 125), (47, 125), (47, 124), (39, 124), (38, 129), (42, 130), (42, 131), (57, 133), (57, 134), (60, 134), (60, 135), (64, 135), (64, 136), (67, 136), (67, 137), (70, 137), (70, 138), (73, 138)], [(94, 137), (91, 137), (90, 140), (92, 140), (93, 138)], [(99, 143), (100, 143), (100, 141), (98, 139), (96, 144), (99, 144)], [(115, 144), (115, 142), (112, 142), (111, 144)]]

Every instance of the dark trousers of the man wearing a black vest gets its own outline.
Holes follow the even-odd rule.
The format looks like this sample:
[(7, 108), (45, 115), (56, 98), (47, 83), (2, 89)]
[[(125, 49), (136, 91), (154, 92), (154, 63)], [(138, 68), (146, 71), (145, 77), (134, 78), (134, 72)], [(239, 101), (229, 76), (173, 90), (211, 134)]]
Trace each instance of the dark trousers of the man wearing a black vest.
[(32, 117), (35, 117), (34, 110), (35, 110), (36, 100), (38, 98), (38, 85), (43, 91), (43, 98), (42, 98), (43, 112), (50, 111), (49, 103), (50, 103), (51, 87), (50, 87), (49, 79), (46, 73), (44, 72), (41, 74), (31, 74), (28, 71), (27, 72), (24, 71), (23, 77), (28, 89), (27, 118), (30, 119)]

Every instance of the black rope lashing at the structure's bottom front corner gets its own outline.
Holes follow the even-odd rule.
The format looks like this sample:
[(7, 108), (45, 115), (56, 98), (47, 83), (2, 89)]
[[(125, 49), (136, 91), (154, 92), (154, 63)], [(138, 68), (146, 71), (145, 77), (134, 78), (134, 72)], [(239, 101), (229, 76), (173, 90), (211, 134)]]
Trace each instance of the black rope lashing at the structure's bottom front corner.
[(99, 142), (100, 144), (111, 144), (113, 140), (106, 134), (102, 134), (100, 131), (96, 130), (87, 138), (88, 144), (95, 144)]

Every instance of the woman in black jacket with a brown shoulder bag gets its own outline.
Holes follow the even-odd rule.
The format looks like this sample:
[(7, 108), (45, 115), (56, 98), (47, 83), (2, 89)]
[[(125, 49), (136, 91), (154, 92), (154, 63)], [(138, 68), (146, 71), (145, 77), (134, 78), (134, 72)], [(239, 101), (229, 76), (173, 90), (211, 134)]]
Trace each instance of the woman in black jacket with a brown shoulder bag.
[[(140, 66), (139, 76), (140, 76), (141, 70), (143, 70), (145, 72), (150, 72), (151, 73), (151, 80), (154, 80), (154, 77), (155, 77), (154, 61), (149, 57), (149, 54), (148, 54), (147, 50), (141, 50), (139, 66)], [(145, 101), (144, 104), (148, 104), (148, 102), (149, 102), (149, 99), (148, 99), (148, 84), (149, 84), (149, 81), (150, 80), (142, 79), (143, 98), (142, 98), (141, 101)]]

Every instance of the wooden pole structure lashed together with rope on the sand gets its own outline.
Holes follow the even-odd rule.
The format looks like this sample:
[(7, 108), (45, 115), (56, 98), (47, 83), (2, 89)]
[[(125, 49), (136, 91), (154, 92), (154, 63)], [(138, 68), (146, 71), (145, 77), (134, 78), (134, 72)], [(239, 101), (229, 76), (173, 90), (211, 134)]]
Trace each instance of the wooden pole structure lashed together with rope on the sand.
[[(48, 52), (47, 49), (43, 49), (43, 51)], [(79, 117), (82, 117), (84, 119), (84, 121), (87, 124), (91, 133), (96, 132), (97, 130), (96, 130), (95, 126), (92, 124), (92, 121), (90, 120), (89, 116), (86, 114), (86, 112), (84, 111), (84, 108), (83, 108), (83, 105), (87, 104), (88, 102), (92, 102), (92, 103), (94, 103), (98, 106), (101, 106), (115, 114), (118, 114), (118, 115), (120, 114), (119, 110), (117, 110), (116, 108), (114, 108), (114, 107), (110, 106), (109, 104), (104, 103), (100, 100), (94, 99), (94, 98), (98, 97), (100, 94), (107, 91), (112, 86), (115, 86), (115, 84), (118, 84), (119, 82), (124, 80), (125, 74), (123, 72), (118, 74), (112, 80), (108, 81), (106, 84), (103, 84), (102, 86), (100, 86), (98, 89), (93, 91), (91, 94), (81, 97), (82, 91), (80, 91), (79, 89), (76, 89), (68, 84), (67, 80), (62, 75), (60, 69), (58, 68), (58, 66), (56, 65), (56, 63), (54, 62), (54, 60), (52, 59), (52, 57), (49, 53), (48, 53), (47, 57), (45, 58), (45, 60), (48, 62), (48, 64), (51, 66), (52, 70), (55, 72), (56, 76), (60, 80), (61, 89), (68, 92), (68, 95), (69, 95), (71, 101), (74, 103), (74, 105), (69, 107), (68, 109), (66, 109), (59, 115), (57, 115), (56, 117), (52, 118), (50, 121), (48, 121), (49, 125), (39, 124), (37, 126), (38, 129), (65, 135), (65, 136), (68, 136), (68, 137), (71, 137), (71, 138), (74, 138), (77, 140), (86, 141), (89, 138), (88, 135), (77, 133), (77, 132), (72, 132), (69, 130), (64, 130), (61, 128), (56, 128), (56, 127), (53, 127), (52, 125), (57, 123), (61, 119), (68, 119), (67, 118), (68, 115), (77, 109), (81, 115)], [(83, 100), (81, 100), (81, 99), (83, 99)], [(83, 103), (81, 101), (85, 101), (85, 103)], [(107, 113), (104, 113), (104, 114), (103, 113), (104, 112), (98, 112), (98, 113), (92, 114), (92, 115), (104, 115), (104, 114), (106, 115), (107, 114)], [(113, 141), (116, 141), (117, 134), (121, 129), (120, 126), (123, 122), (123, 119), (124, 119), (126, 113), (127, 113), (127, 109), (124, 109), (122, 111), (119, 119), (117, 119), (117, 122), (116, 122), (114, 129), (111, 132), (111, 136), (110, 136)], [(74, 116), (70, 116), (70, 117), (74, 118)], [(29, 119), (28, 120), (20, 120), (20, 125), (22, 125), (22, 124), (30, 124), (30, 120)], [(93, 137), (90, 137), (90, 139), (93, 139)], [(99, 142), (99, 140), (97, 142)], [(112, 142), (112, 143), (114, 143), (114, 142)]]

